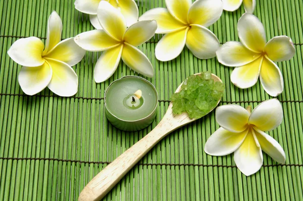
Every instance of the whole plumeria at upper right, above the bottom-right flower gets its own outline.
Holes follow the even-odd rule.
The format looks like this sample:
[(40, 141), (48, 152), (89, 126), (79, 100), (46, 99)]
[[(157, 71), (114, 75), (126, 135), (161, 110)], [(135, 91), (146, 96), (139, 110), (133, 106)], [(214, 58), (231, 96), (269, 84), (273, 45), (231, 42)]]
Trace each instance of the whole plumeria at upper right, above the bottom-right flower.
[(277, 36), (266, 43), (262, 22), (254, 15), (245, 13), (238, 21), (241, 42), (229, 41), (217, 51), (218, 61), (236, 67), (231, 82), (239, 88), (254, 86), (259, 78), (265, 91), (271, 96), (282, 93), (283, 77), (274, 62), (290, 60), (295, 54), (292, 40)]

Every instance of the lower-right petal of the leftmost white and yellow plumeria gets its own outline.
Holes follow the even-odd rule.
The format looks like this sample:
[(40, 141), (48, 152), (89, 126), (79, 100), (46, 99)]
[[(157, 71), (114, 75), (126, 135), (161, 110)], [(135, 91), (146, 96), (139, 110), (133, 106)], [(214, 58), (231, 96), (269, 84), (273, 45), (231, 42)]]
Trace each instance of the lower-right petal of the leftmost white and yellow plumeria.
[(52, 80), (47, 87), (60, 96), (75, 95), (78, 91), (78, 76), (73, 68), (53, 59), (47, 59), (47, 62), (53, 70)]

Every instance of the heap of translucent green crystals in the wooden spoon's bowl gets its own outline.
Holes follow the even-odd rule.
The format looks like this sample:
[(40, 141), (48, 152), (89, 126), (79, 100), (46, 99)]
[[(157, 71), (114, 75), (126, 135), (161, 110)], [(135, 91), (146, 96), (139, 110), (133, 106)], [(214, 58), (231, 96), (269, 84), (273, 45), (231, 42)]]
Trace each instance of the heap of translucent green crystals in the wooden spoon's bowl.
[(171, 97), (173, 113), (187, 112), (190, 118), (199, 119), (217, 106), (223, 96), (225, 86), (215, 82), (211, 72), (191, 75), (184, 80), (181, 91)]

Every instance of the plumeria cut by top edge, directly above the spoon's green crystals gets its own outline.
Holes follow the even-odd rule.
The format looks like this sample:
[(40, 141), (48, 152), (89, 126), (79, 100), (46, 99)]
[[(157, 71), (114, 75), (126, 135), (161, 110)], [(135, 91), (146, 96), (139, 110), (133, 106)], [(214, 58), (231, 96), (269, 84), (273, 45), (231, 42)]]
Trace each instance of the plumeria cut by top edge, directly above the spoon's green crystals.
[(214, 24), (222, 15), (221, 0), (166, 0), (166, 7), (151, 9), (141, 20), (156, 20), (156, 33), (167, 33), (156, 46), (156, 58), (170, 61), (178, 57), (185, 44), (199, 59), (216, 56), (220, 46), (217, 36), (206, 27)]

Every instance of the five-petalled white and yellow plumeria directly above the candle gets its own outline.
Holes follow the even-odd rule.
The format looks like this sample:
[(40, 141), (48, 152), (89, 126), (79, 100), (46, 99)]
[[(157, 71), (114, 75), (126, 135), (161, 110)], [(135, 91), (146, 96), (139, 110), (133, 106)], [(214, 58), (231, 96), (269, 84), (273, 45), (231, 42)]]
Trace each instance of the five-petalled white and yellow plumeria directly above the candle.
[(157, 22), (141, 21), (126, 28), (123, 15), (106, 1), (100, 2), (97, 15), (103, 30), (80, 33), (74, 39), (87, 51), (104, 51), (94, 68), (94, 80), (99, 83), (110, 78), (121, 58), (134, 71), (153, 77), (153, 66), (135, 46), (143, 44), (155, 35)]

